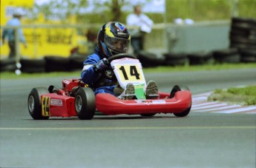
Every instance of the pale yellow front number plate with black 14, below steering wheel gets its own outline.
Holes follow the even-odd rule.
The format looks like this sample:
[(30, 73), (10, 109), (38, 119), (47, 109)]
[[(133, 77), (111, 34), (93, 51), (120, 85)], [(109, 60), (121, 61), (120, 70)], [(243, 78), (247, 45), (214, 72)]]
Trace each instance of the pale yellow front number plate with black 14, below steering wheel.
[(143, 81), (142, 70), (137, 64), (120, 64), (116, 67), (122, 82)]

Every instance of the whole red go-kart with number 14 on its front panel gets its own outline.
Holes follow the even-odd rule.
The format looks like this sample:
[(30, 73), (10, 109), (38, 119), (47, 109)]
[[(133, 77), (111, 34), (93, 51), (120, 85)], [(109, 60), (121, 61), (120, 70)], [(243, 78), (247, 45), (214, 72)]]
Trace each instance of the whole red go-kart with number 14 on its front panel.
[(27, 98), (27, 106), (33, 119), (49, 117), (78, 116), (90, 120), (96, 113), (103, 115), (142, 115), (173, 113), (177, 117), (188, 115), (191, 110), (191, 92), (186, 86), (175, 85), (171, 93), (158, 92), (145, 97), (145, 77), (140, 61), (133, 55), (117, 54), (108, 58), (111, 73), (108, 78), (116, 78), (119, 86), (125, 89), (128, 83), (134, 84), (134, 99), (122, 100), (109, 93), (94, 95), (93, 88), (81, 79), (64, 79), (62, 88), (35, 87)]

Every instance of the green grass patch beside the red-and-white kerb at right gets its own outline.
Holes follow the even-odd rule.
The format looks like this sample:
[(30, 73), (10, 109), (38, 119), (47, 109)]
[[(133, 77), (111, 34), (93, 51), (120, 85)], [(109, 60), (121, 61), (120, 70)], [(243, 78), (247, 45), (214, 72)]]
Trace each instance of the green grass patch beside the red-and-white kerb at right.
[(256, 105), (256, 85), (232, 87), (227, 90), (214, 90), (208, 100), (225, 101), (242, 105)]

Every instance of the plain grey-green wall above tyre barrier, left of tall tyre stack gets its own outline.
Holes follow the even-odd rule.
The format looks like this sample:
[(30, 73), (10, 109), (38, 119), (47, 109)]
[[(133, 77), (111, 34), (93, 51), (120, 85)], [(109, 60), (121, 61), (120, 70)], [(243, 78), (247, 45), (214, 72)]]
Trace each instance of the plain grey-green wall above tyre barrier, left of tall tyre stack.
[(191, 25), (169, 24), (145, 37), (145, 50), (151, 52), (194, 53), (229, 47), (229, 21), (211, 21)]

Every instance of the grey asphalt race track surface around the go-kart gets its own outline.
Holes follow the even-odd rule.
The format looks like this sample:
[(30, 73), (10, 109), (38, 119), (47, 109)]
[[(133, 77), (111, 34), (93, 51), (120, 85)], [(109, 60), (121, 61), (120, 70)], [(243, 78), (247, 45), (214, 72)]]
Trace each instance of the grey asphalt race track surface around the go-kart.
[[(97, 115), (91, 121), (27, 112), (33, 87), (62, 78), (1, 79), (0, 167), (255, 167), (256, 115), (191, 110), (174, 115)], [(189, 73), (151, 73), (161, 91), (186, 84), (193, 95), (256, 84), (256, 68)]]

